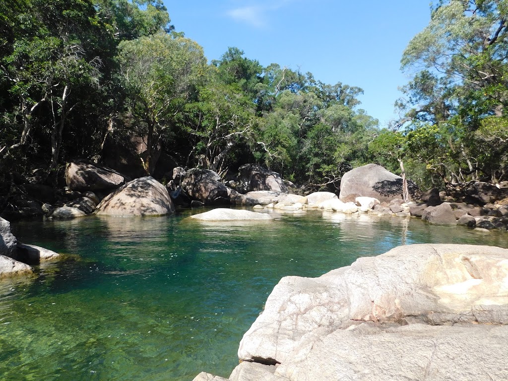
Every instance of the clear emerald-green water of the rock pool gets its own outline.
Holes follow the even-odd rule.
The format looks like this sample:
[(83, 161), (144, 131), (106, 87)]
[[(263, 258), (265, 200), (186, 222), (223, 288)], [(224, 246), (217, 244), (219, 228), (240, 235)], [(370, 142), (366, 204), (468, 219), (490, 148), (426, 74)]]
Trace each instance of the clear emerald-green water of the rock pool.
[(0, 379), (228, 376), (282, 276), (319, 276), (401, 244), (508, 247), (506, 233), (417, 219), (308, 212), (228, 225), (190, 213), (13, 224), (19, 240), (70, 256), (0, 281)]

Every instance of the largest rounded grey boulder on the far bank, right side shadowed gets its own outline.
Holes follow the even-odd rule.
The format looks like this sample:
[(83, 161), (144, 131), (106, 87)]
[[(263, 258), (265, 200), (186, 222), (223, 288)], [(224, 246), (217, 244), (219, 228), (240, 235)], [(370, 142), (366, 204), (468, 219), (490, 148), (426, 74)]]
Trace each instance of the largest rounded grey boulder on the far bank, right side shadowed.
[[(409, 198), (419, 195), (418, 187), (407, 181)], [(380, 202), (402, 198), (402, 177), (377, 164), (367, 164), (346, 172), (340, 181), (339, 199), (354, 202), (357, 197), (372, 197)]]

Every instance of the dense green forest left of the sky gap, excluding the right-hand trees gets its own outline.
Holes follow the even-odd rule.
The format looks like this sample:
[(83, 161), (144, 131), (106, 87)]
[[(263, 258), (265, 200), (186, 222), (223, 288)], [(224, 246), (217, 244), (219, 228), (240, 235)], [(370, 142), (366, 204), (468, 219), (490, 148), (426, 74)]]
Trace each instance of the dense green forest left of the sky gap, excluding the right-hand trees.
[(135, 138), (150, 174), (164, 151), (182, 165), (223, 174), (258, 163), (320, 187), (371, 160), (378, 122), (357, 110), (362, 89), (263, 67), (234, 47), (208, 65), (161, 0), (5, 1), (3, 164), (24, 157), (23, 170), (55, 173), (72, 157), (100, 160), (108, 139)]

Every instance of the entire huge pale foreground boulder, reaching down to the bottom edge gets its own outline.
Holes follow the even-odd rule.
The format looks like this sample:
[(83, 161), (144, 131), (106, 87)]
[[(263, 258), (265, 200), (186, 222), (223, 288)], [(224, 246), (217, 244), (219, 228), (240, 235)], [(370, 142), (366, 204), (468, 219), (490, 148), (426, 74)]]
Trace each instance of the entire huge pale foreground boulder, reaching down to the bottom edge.
[(230, 379), (503, 380), (507, 339), (508, 249), (399, 246), (282, 278), (240, 342), (258, 364)]

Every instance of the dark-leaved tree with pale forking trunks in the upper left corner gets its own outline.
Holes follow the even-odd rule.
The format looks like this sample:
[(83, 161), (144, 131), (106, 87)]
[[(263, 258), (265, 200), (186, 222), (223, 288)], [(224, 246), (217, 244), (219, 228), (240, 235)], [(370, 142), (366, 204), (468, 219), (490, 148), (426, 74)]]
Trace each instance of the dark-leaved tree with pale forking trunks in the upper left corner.
[(93, 4), (86, 0), (31, 0), (18, 9), (15, 20), (13, 42), (1, 58), (0, 69), (11, 100), (18, 101), (13, 111), (22, 120), (22, 128), (16, 141), (0, 147), (0, 151), (5, 157), (25, 146), (31, 138), (35, 113), (44, 107), (51, 115), (46, 122), (51, 135), (50, 168), (54, 169), (66, 119), (80, 101), (71, 93), (80, 92), (80, 88), (88, 88), (83, 93), (90, 93), (98, 87), (102, 65), (98, 51), (104, 29)]

